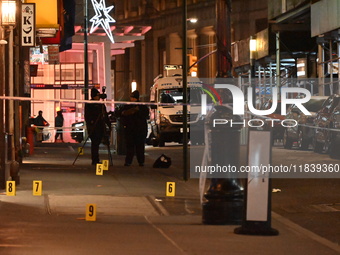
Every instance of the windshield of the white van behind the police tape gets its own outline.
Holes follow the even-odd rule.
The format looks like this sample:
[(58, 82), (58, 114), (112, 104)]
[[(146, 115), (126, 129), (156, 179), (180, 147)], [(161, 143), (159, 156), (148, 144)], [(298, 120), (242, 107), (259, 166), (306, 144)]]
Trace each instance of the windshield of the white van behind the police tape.
[[(188, 101), (191, 104), (200, 104), (201, 103), (201, 88), (190, 88), (188, 89)], [(182, 88), (174, 88), (174, 89), (163, 89), (160, 90), (159, 93), (160, 102), (161, 103), (182, 103), (183, 102), (183, 89)]]

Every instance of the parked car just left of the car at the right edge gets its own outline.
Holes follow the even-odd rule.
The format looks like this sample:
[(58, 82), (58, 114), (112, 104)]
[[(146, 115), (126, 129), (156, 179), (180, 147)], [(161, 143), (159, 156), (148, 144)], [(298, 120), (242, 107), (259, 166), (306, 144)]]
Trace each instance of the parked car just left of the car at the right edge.
[(314, 125), (316, 113), (321, 109), (326, 99), (327, 96), (312, 96), (308, 102), (303, 104), (312, 115), (304, 115), (296, 105), (291, 105), (288, 108), (286, 119), (294, 119), (298, 125), (285, 128), (283, 134), (283, 146), (285, 149), (291, 149), (294, 142), (297, 143), (299, 149), (308, 149), (314, 136), (313, 128), (308, 126)]

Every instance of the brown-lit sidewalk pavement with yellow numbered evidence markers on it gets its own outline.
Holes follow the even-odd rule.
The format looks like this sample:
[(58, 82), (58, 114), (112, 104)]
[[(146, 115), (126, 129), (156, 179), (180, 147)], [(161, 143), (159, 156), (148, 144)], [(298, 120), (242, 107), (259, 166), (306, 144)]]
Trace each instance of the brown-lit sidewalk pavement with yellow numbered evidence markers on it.
[[(72, 165), (77, 147), (42, 144), (25, 158), (16, 196), (0, 196), (0, 254), (340, 254), (338, 245), (275, 213), (278, 236), (203, 225), (198, 181), (152, 168), (153, 151), (144, 167), (124, 167), (124, 156), (114, 155), (114, 166), (98, 176), (89, 147)], [(42, 181), (42, 196), (32, 195), (34, 180)], [(169, 181), (174, 198), (165, 197)], [(85, 220), (89, 203), (97, 206), (96, 221)]]

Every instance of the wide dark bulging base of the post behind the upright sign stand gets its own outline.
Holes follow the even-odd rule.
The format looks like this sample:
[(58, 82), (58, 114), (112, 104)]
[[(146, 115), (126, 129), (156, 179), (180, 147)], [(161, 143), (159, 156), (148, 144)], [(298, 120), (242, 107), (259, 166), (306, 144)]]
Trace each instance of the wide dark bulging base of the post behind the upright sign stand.
[[(209, 165), (235, 166), (240, 164), (241, 125), (216, 125), (214, 120), (233, 120), (241, 122), (240, 116), (233, 116), (232, 109), (215, 106), (207, 115), (205, 128), (209, 137)], [(244, 179), (235, 174), (223, 173), (223, 178), (211, 179), (210, 187), (204, 197), (202, 221), (204, 224), (241, 224), (243, 215)]]

